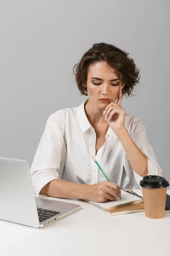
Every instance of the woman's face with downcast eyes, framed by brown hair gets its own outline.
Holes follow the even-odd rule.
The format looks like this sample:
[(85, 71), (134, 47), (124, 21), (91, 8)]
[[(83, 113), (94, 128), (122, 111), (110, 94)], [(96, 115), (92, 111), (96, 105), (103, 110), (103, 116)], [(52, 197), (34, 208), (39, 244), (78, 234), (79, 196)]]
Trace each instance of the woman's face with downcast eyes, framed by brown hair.
[[(109, 102), (116, 101), (122, 89), (122, 82), (116, 76), (114, 69), (108, 68), (103, 61), (89, 67), (86, 86), (89, 102), (103, 109)], [(104, 98), (108, 100), (100, 100)]]

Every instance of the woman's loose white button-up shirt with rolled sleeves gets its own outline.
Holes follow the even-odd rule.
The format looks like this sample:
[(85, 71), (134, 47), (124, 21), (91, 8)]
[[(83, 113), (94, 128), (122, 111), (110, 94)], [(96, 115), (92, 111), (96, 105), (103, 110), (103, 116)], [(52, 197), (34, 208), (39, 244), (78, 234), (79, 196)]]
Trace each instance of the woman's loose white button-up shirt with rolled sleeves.
[[(87, 100), (87, 99), (86, 99)], [(85, 100), (85, 101), (86, 101)], [(94, 184), (106, 180), (91, 158), (120, 188), (134, 189), (142, 177), (130, 166), (125, 150), (112, 128), (108, 128), (105, 143), (96, 154), (96, 133), (85, 114), (85, 101), (79, 107), (65, 108), (49, 116), (31, 166), (34, 193), (54, 179), (74, 183)], [(148, 175), (162, 175), (153, 148), (146, 138), (146, 128), (133, 115), (126, 113), (125, 128), (147, 157)]]

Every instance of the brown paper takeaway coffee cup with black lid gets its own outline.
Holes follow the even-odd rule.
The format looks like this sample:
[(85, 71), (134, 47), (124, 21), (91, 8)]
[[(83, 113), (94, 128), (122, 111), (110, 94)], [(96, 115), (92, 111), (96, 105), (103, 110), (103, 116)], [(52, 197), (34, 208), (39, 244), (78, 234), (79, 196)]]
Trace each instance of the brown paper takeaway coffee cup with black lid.
[(144, 176), (140, 181), (144, 211), (148, 218), (164, 218), (168, 181), (156, 175)]

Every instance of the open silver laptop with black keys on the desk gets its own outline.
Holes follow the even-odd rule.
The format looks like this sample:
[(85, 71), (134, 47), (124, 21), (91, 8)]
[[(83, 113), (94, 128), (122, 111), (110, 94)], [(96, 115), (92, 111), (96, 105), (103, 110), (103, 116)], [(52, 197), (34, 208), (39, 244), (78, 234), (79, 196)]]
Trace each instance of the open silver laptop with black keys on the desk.
[(38, 228), (80, 207), (35, 197), (28, 162), (0, 157), (0, 220)]

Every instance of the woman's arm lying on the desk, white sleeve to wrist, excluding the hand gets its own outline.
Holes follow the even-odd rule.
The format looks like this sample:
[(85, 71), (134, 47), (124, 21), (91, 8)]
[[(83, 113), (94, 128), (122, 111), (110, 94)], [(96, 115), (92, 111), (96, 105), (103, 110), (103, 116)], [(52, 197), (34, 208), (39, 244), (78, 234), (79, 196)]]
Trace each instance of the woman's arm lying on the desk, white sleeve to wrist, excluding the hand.
[[(57, 118), (57, 124), (61, 118)], [(60, 126), (60, 127), (59, 127)], [(62, 124), (56, 125), (50, 117), (38, 145), (31, 166), (34, 192), (58, 198), (85, 198), (87, 186), (61, 180), (65, 165), (66, 148)]]

